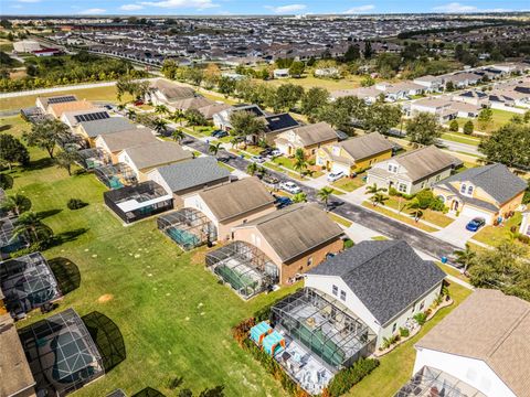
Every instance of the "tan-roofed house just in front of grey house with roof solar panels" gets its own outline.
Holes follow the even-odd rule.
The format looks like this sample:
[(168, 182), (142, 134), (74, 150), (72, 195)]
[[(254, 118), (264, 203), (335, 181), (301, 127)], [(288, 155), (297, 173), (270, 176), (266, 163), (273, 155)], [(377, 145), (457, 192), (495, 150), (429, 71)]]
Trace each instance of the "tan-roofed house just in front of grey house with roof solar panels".
[(121, 150), (152, 142), (160, 142), (160, 140), (155, 137), (151, 129), (141, 127), (100, 135), (95, 139), (94, 146), (103, 150), (105, 157), (116, 164)]

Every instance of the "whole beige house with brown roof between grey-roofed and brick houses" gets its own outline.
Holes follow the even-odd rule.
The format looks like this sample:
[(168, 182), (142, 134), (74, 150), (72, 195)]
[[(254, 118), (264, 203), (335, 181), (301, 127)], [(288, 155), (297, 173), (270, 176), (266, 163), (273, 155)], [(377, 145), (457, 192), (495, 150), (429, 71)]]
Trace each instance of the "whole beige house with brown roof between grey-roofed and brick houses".
[(204, 189), (184, 197), (184, 207), (206, 215), (219, 240), (231, 239), (232, 227), (276, 211), (274, 196), (257, 178)]

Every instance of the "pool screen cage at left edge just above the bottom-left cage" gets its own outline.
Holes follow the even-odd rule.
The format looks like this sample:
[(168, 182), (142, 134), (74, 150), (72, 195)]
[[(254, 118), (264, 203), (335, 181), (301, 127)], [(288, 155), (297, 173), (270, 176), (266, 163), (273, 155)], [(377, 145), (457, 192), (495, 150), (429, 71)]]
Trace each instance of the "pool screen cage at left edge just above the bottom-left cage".
[(57, 280), (40, 253), (0, 262), (0, 288), (15, 316), (61, 298)]

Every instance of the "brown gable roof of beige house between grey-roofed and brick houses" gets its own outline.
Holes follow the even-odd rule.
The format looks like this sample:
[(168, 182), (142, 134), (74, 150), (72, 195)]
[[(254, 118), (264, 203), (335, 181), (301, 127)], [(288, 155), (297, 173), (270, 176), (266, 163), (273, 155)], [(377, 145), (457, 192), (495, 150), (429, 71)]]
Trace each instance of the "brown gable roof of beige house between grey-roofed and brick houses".
[(219, 221), (274, 204), (273, 195), (255, 176), (206, 189), (199, 195)]

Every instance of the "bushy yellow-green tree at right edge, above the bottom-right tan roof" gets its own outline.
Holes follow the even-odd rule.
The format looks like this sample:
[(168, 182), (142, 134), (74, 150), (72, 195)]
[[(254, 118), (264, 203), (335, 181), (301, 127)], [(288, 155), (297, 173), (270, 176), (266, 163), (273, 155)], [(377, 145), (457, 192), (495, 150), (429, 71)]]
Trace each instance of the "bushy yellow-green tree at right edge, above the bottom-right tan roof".
[(510, 242), (477, 253), (469, 267), (470, 282), (477, 288), (499, 289), (530, 301), (528, 248)]

